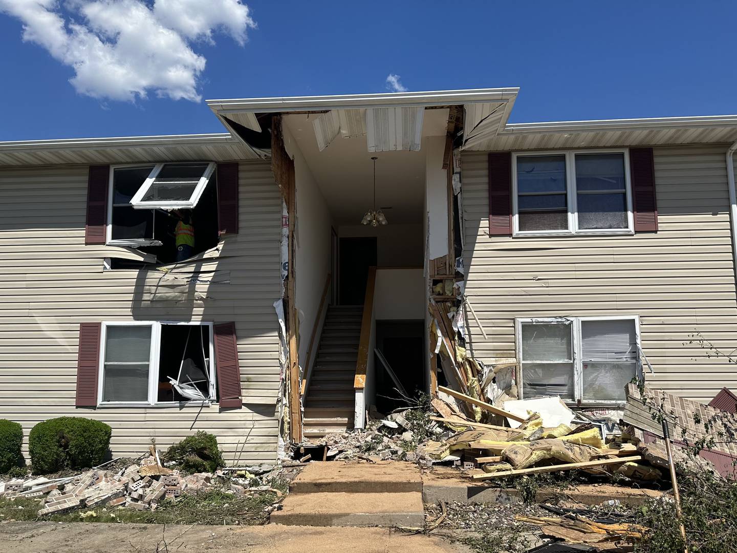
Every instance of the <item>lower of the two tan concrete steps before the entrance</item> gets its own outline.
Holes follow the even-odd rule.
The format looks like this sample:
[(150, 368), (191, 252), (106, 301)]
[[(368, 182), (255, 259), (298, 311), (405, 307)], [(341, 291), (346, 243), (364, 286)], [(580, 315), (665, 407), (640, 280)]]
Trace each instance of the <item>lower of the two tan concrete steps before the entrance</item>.
[[(391, 497), (387, 497), (391, 495)], [(287, 495), (271, 522), (290, 526), (414, 526), (425, 524), (422, 493)]]

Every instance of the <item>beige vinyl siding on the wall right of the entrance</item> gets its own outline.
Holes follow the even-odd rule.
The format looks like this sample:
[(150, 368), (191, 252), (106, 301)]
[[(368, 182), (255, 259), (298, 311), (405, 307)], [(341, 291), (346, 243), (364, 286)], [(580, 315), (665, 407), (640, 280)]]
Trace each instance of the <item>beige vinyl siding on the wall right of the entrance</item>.
[(737, 370), (691, 343), (697, 331), (737, 348), (727, 146), (654, 149), (659, 231), (635, 236), (489, 237), (486, 153), (462, 158), (472, 347), (482, 361), (515, 355), (514, 318), (639, 315), (657, 388), (708, 401), (737, 389)]

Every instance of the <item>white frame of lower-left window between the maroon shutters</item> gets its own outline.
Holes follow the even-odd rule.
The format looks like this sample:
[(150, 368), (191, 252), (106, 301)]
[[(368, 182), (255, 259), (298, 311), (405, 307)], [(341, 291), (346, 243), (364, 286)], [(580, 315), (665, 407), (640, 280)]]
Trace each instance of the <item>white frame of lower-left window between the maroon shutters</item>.
[[(185, 401), (157, 401), (158, 397), (158, 369), (159, 352), (161, 351), (161, 327), (169, 324), (188, 324), (198, 327), (209, 327), (210, 339), (210, 368), (209, 368), (209, 397), (211, 399)], [(108, 327), (151, 327), (151, 351), (148, 366), (148, 399), (146, 401), (102, 401), (102, 390), (105, 386), (105, 345), (108, 338)], [(174, 407), (209, 406), (217, 402), (217, 384), (215, 380), (215, 344), (214, 323), (212, 321), (103, 321), (99, 344), (99, 366), (97, 373), (97, 406), (98, 407)]]

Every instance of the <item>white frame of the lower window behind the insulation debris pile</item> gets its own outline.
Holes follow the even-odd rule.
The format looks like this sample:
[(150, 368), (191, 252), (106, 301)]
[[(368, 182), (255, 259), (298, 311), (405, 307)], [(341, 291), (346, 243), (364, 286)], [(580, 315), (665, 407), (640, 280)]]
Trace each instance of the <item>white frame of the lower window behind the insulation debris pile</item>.
[[(635, 321), (635, 340), (637, 341), (637, 364), (635, 366), (635, 374), (642, 380), (643, 364), (640, 358), (640, 316), (639, 315), (604, 315), (604, 316), (587, 316), (587, 317), (528, 317), (514, 319), (514, 336), (515, 348), (517, 349), (517, 390), (520, 399), (525, 399), (523, 386), (523, 364), (525, 360), (522, 357), (522, 325), (523, 324), (570, 324), (573, 347), (573, 400), (564, 400), (567, 405), (581, 407), (611, 407), (624, 406), (625, 401), (616, 400), (589, 400), (584, 401), (584, 372), (583, 372), (583, 354), (581, 352), (581, 321)], [(530, 361), (531, 363), (545, 363), (545, 361)]]

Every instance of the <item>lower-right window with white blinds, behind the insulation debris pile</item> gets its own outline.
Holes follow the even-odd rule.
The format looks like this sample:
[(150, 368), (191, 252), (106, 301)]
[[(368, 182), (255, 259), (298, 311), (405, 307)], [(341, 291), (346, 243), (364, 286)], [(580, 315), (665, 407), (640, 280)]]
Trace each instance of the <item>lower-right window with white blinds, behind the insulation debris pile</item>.
[(581, 403), (626, 400), (639, 364), (638, 319), (517, 319), (522, 397), (558, 395)]

